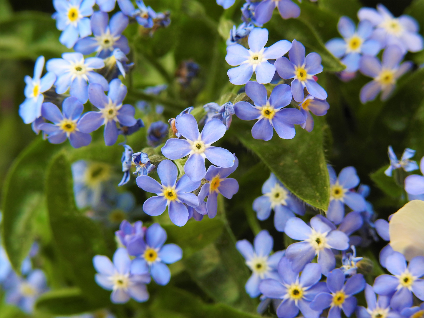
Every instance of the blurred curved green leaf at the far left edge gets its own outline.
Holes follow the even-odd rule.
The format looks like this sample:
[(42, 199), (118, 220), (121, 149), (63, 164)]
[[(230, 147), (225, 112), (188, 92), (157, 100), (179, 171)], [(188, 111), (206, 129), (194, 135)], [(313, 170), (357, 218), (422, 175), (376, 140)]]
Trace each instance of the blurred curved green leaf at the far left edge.
[(20, 271), (34, 240), (35, 220), (45, 209), (44, 174), (57, 146), (36, 138), (10, 167), (3, 186), (3, 242), (10, 262)]

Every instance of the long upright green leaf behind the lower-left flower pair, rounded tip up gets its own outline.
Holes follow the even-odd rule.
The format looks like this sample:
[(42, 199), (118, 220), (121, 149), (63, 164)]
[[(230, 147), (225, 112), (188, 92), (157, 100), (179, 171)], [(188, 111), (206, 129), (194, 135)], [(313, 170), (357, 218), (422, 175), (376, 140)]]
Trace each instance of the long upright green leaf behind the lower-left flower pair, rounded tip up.
[(72, 184), (70, 162), (64, 153), (59, 153), (52, 159), (46, 178), (47, 209), (53, 237), (75, 284), (90, 302), (104, 304), (110, 292), (95, 283), (92, 258), (97, 254), (111, 257), (112, 253), (106, 247), (100, 226), (78, 212)]

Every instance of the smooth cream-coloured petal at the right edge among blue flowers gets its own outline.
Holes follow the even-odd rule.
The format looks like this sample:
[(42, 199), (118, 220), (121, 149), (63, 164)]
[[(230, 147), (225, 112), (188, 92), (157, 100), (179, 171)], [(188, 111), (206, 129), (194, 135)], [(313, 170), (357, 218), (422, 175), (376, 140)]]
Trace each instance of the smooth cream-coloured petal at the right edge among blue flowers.
[(408, 261), (424, 256), (424, 201), (410, 201), (393, 214), (389, 235), (390, 246)]

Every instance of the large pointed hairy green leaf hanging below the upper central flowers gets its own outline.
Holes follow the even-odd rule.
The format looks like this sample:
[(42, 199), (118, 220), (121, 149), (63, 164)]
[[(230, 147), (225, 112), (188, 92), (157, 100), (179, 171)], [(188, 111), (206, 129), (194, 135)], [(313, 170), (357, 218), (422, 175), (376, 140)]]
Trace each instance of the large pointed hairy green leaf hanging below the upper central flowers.
[[(326, 210), (330, 199), (330, 181), (324, 157), (324, 118), (314, 117), (311, 132), (296, 127), (293, 139), (281, 139), (274, 132), (269, 141), (254, 139), (249, 126), (234, 121), (234, 131), (243, 145), (256, 153), (276, 177), (298, 198)], [(241, 125), (243, 126), (241, 126)]]

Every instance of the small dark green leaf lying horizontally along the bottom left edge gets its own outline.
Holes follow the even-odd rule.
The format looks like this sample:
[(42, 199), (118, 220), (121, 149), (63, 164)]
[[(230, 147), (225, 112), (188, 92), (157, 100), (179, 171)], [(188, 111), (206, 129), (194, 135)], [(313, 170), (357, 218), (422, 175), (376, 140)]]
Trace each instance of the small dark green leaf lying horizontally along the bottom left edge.
[(78, 287), (44, 293), (37, 299), (35, 308), (51, 315), (74, 315), (96, 309)]

